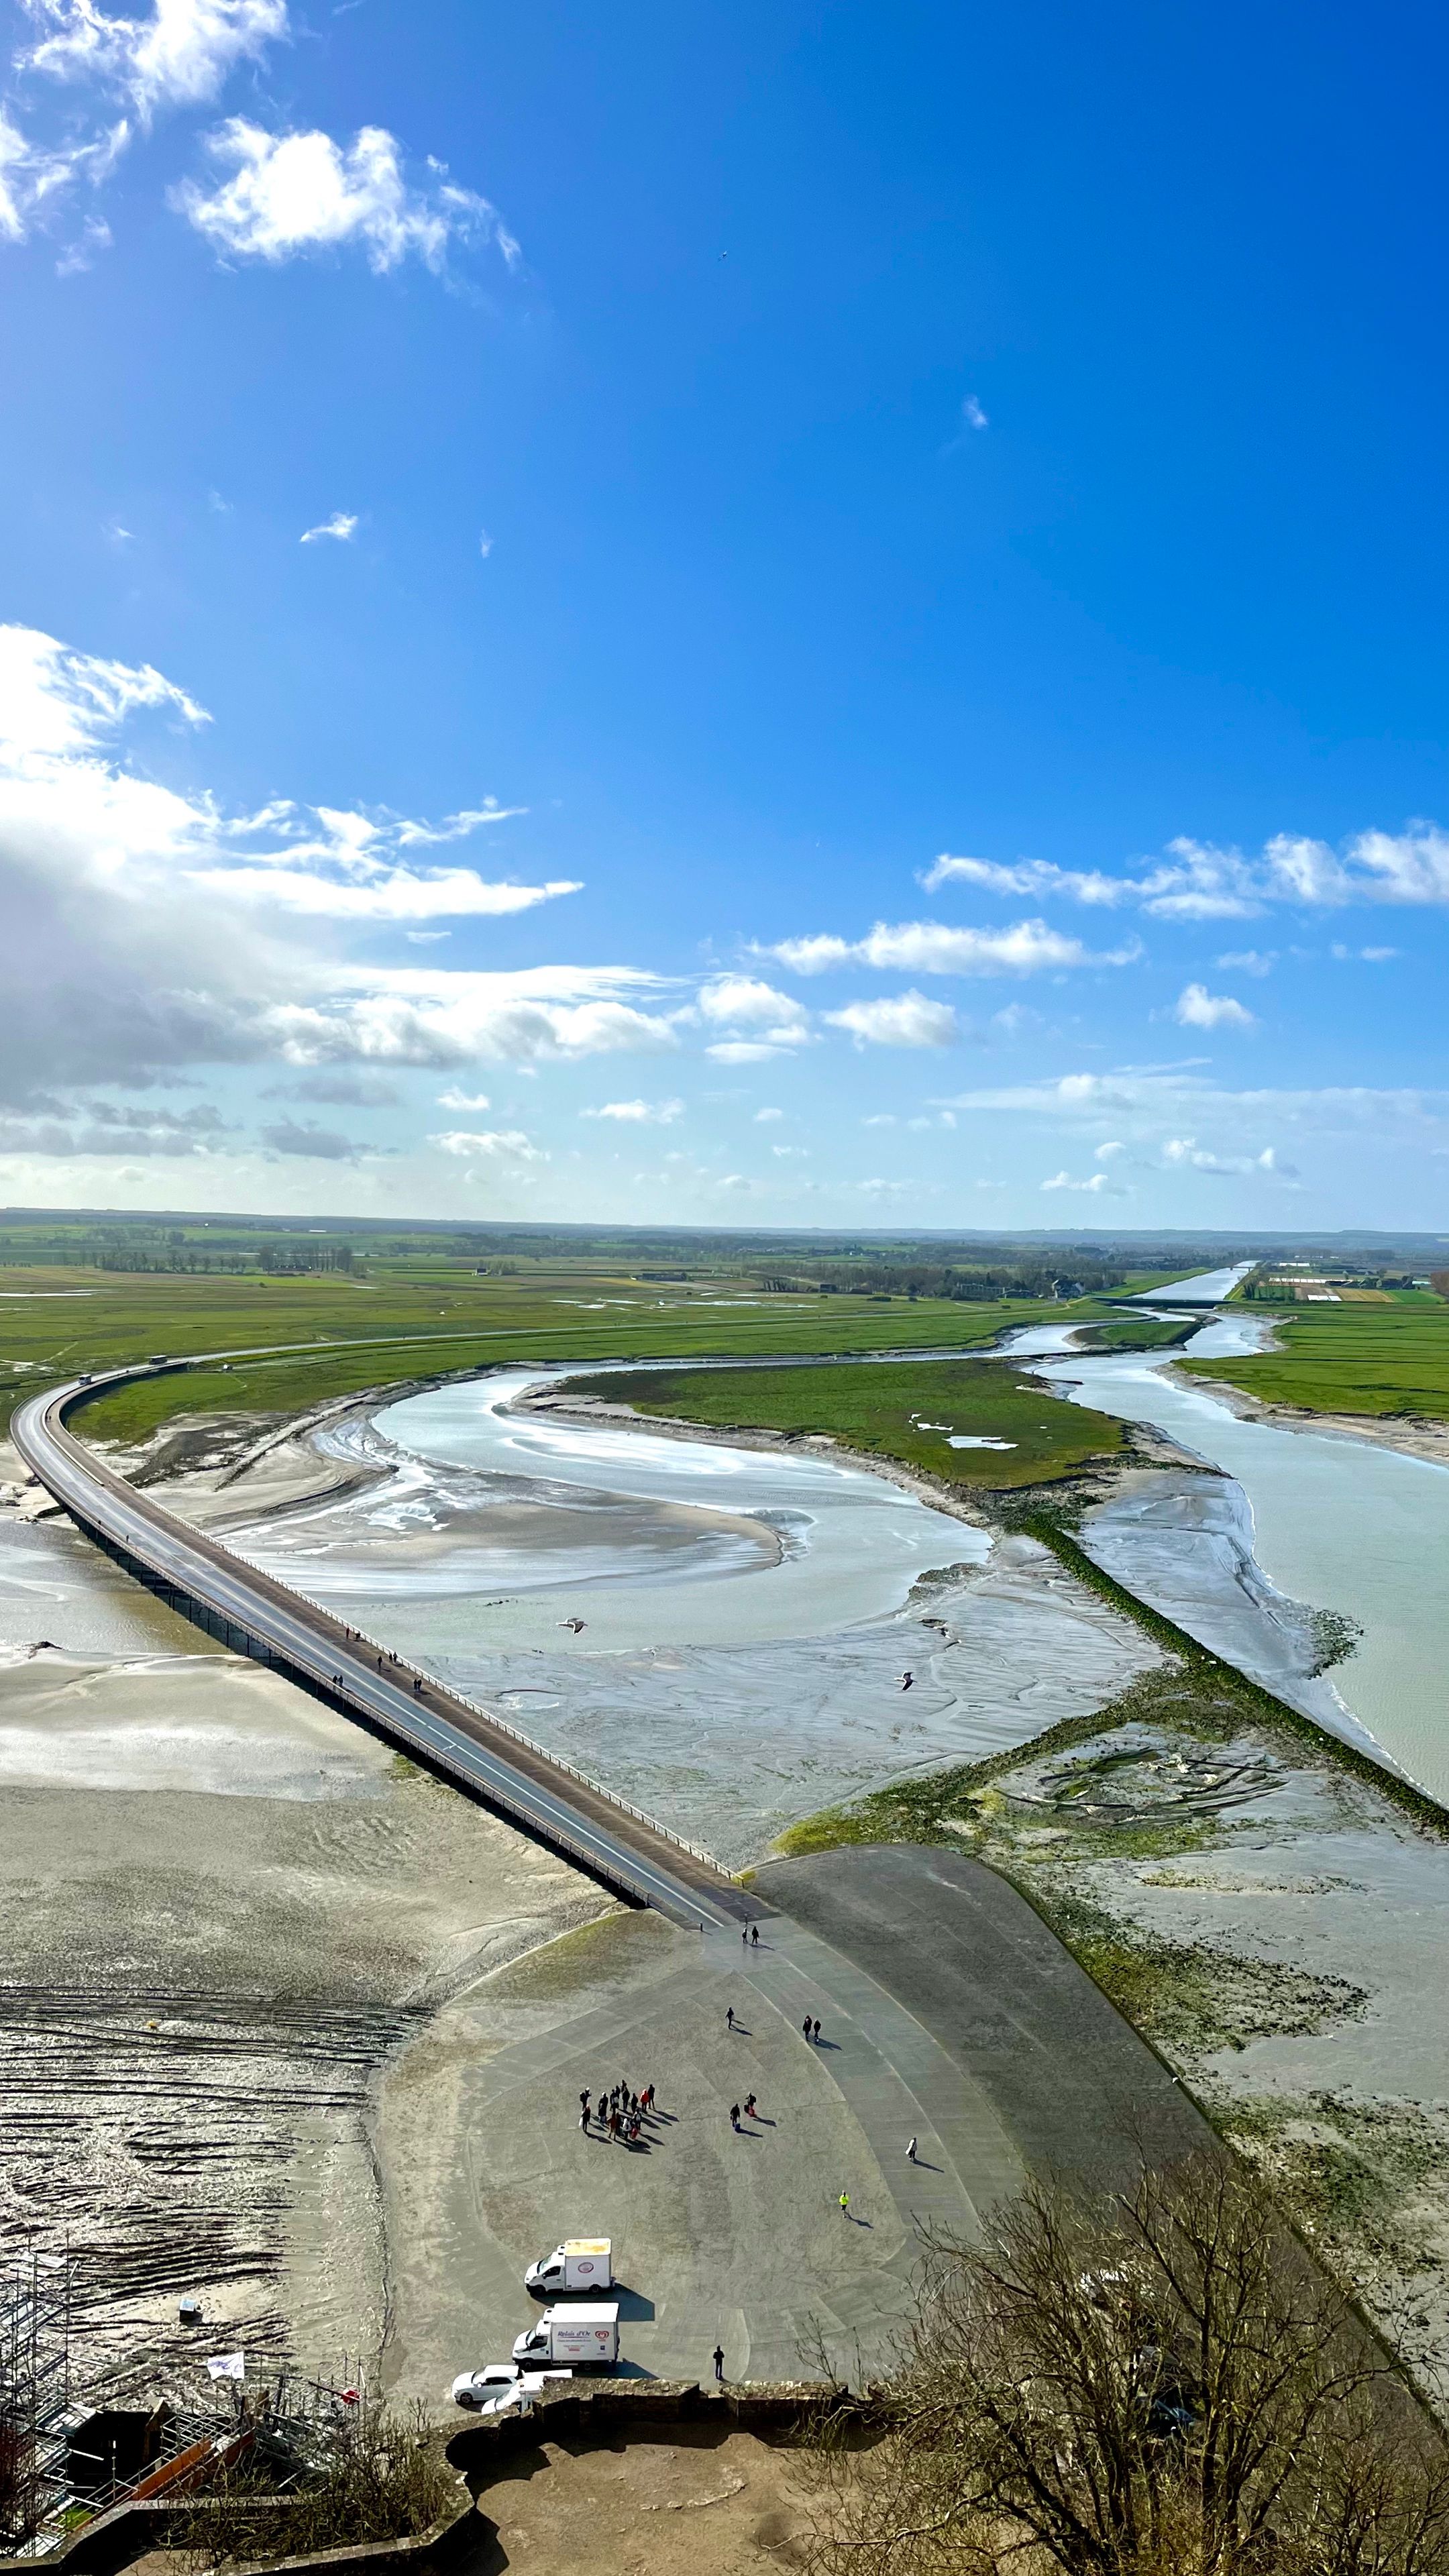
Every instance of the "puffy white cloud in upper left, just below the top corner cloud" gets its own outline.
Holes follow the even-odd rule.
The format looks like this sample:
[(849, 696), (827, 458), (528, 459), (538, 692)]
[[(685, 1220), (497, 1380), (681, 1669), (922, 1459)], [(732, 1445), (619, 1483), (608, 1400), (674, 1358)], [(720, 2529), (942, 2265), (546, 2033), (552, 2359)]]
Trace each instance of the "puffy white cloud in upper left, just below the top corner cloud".
[(451, 247), (482, 242), (508, 263), (518, 258), (487, 198), (456, 188), (438, 162), (428, 165), (428, 188), (413, 188), (384, 126), (364, 126), (340, 147), (330, 134), (268, 134), (232, 116), (206, 149), (229, 178), (211, 196), (183, 180), (170, 201), (224, 258), (276, 265), (356, 245), (379, 276), (407, 258), (441, 270)]

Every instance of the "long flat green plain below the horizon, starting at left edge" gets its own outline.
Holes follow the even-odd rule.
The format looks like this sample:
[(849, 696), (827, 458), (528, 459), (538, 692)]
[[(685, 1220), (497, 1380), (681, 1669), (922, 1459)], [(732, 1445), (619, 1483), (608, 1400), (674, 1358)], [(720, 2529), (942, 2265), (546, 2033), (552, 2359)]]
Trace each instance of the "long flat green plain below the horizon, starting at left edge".
[[(727, 1280), (652, 1283), (583, 1262), (480, 1275), (454, 1257), (369, 1260), (364, 1278), (0, 1270), (0, 1425), (39, 1386), (155, 1352), (255, 1352), (150, 1378), (83, 1414), (137, 1440), (180, 1414), (304, 1412), (330, 1396), (503, 1360), (755, 1358), (980, 1350), (1011, 1324), (1106, 1316), (1098, 1298), (982, 1303), (810, 1296)], [(289, 1347), (291, 1345), (291, 1347)], [(302, 1347), (297, 1347), (302, 1345)], [(276, 1358), (260, 1358), (273, 1352)]]

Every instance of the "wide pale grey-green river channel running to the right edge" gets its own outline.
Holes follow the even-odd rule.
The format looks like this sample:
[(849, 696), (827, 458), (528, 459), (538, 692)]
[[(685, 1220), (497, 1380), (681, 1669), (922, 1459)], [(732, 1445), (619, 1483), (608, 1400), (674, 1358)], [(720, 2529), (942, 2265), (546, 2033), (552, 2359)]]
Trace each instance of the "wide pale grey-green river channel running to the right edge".
[[(1222, 1316), (1183, 1352), (1062, 1360), (1044, 1376), (1096, 1412), (1155, 1422), (1238, 1481), (1248, 1507), (1240, 1538), (1276, 1592), (1361, 1623), (1359, 1651), (1333, 1667), (1333, 1692), (1410, 1777), (1449, 1798), (1449, 1468), (1336, 1432), (1243, 1422), (1207, 1388), (1165, 1373), (1173, 1358), (1191, 1368), (1194, 1358), (1258, 1350), (1261, 1334), (1250, 1316)], [(1194, 1579), (1194, 1540), (1168, 1540), (1171, 1507), (1163, 1489), (1160, 1512), (1147, 1507), (1132, 1525), (1127, 1507), (1109, 1504), (1091, 1538), (1111, 1571), (1165, 1610), (1165, 1561), (1176, 1556), (1178, 1584)], [(1222, 1592), (1207, 1566), (1204, 1589)]]

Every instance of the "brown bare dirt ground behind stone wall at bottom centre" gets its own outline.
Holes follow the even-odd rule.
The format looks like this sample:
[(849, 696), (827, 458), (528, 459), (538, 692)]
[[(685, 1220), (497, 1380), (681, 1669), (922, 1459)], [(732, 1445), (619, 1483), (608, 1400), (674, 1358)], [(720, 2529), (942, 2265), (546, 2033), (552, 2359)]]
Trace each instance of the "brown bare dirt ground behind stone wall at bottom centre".
[(498, 2524), (498, 2550), (480, 2561), (480, 2576), (745, 2576), (804, 2563), (799, 2452), (714, 2424), (608, 2447), (541, 2439), (516, 2452), (477, 2501)]

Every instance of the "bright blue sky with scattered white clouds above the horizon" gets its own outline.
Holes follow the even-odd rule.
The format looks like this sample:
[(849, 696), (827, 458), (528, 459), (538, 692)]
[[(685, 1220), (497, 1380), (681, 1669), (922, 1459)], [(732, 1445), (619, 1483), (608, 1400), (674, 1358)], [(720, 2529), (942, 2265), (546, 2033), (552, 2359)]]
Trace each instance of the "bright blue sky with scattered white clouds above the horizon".
[(1441, 13), (0, 33), (0, 1198), (1449, 1226)]

